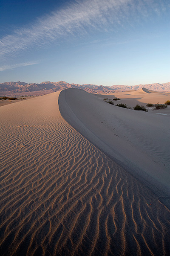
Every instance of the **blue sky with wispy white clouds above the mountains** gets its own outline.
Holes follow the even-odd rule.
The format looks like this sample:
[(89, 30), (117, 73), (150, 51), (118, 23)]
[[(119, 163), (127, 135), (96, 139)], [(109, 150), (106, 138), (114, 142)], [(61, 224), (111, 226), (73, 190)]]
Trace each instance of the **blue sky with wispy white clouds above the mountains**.
[(1, 0), (0, 82), (170, 81), (169, 0)]

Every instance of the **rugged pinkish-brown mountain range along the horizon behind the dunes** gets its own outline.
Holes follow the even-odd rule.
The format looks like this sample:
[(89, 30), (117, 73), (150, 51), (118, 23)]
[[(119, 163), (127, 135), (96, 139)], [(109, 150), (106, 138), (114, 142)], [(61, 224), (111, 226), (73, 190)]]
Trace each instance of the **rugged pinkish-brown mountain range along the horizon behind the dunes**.
[(45, 81), (40, 84), (25, 82), (5, 82), (0, 84), (0, 96), (31, 96), (31, 95), (44, 95), (47, 93), (53, 93), (58, 90), (64, 90), (68, 88), (79, 88), (87, 91), (88, 93), (116, 93), (126, 90), (139, 90), (140, 88), (146, 88), (148, 90), (154, 90), (159, 92), (170, 91), (170, 82), (164, 84), (139, 84), (134, 86), (125, 85), (112, 85), (103, 86), (96, 84), (69, 84), (65, 81), (50, 82)]

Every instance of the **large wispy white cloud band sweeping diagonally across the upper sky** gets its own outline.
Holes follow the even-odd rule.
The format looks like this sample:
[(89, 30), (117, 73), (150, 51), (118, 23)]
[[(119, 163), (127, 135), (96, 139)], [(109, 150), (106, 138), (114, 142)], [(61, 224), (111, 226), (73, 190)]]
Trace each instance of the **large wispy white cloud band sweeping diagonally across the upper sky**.
[[(82, 35), (89, 29), (107, 29), (109, 24), (121, 25), (130, 15), (148, 15), (157, 10), (155, 0), (84, 0), (65, 9), (39, 18), (34, 24), (14, 31), (0, 40), (0, 56), (16, 55), (33, 46), (51, 45), (60, 37)], [(137, 15), (136, 15), (137, 16)]]

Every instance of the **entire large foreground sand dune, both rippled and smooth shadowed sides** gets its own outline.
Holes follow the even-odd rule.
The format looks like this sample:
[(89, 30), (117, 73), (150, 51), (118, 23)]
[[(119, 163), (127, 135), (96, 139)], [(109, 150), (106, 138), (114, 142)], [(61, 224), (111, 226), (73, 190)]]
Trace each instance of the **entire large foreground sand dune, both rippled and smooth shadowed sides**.
[(169, 255), (169, 109), (102, 97), (68, 89), (0, 107), (1, 255)]

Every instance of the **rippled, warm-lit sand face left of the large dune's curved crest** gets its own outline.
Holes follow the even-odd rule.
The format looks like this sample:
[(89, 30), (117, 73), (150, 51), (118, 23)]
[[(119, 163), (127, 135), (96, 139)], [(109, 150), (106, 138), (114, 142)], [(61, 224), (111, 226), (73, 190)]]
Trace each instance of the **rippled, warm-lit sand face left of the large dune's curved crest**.
[(65, 122), (58, 96), (0, 108), (1, 255), (169, 255), (169, 210)]

